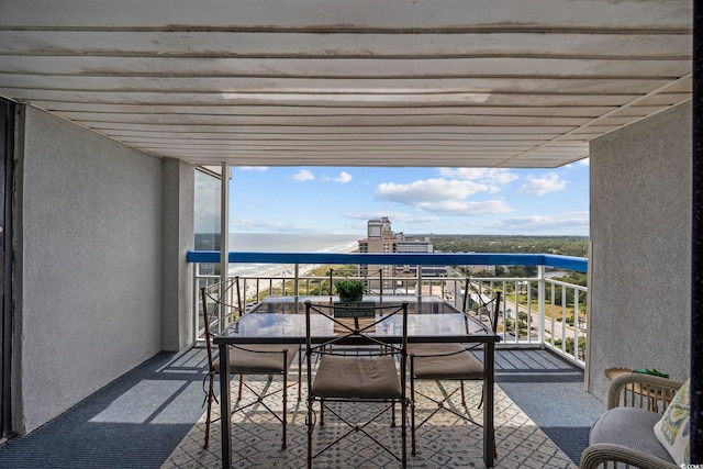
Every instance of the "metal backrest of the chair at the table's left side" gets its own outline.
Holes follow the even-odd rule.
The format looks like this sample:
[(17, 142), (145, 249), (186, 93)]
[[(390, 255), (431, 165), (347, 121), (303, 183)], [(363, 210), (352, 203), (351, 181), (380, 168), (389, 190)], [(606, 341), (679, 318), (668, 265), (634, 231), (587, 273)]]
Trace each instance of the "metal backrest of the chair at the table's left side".
[(203, 335), (208, 348), (208, 362), (212, 367), (214, 362), (213, 334), (222, 332), (230, 323), (242, 316), (239, 277), (202, 287), (200, 289), (200, 300), (202, 302)]

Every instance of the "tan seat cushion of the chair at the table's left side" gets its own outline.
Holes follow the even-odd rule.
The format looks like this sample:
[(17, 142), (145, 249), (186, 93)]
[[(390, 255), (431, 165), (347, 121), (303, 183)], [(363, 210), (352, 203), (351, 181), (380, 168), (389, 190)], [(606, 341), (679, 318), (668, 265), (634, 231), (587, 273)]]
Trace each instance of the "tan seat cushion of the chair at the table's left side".
[[(283, 362), (283, 350), (288, 349), (287, 361)], [(290, 367), (298, 351), (298, 346), (284, 344), (253, 344), (232, 347), (230, 349), (230, 372), (235, 375), (275, 375), (282, 373)], [(215, 372), (220, 371), (220, 360), (212, 364)]]

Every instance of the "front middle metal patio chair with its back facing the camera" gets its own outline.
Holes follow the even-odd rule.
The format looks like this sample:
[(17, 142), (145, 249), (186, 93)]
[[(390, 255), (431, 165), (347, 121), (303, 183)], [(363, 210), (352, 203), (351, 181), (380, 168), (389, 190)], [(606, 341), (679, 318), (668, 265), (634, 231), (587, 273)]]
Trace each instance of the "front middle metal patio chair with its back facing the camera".
[[(408, 464), (406, 448), (406, 411), (410, 401), (406, 399), (406, 348), (408, 348), (408, 303), (394, 305), (372, 306), (373, 315), (354, 315), (352, 311), (339, 314), (338, 304), (313, 304), (305, 302), (305, 331), (308, 365), (308, 468), (312, 468), (314, 458), (330, 449), (343, 438), (361, 433), (383, 448), (393, 458), (401, 461), (402, 467)], [(368, 309), (369, 306), (364, 306)], [(354, 310), (354, 306), (349, 306)], [(314, 343), (311, 321), (319, 316), (319, 321), (331, 321), (334, 326), (334, 338), (324, 343)], [(317, 320), (317, 317), (315, 317)], [(317, 323), (317, 321), (315, 321)], [(399, 324), (400, 322), (400, 324)], [(383, 328), (384, 327), (384, 328)], [(390, 331), (395, 327), (400, 344), (389, 344), (376, 338), (371, 333), (377, 330)], [(392, 334), (386, 334), (392, 335)], [(364, 355), (349, 355), (345, 350), (347, 345), (367, 346)], [(317, 362), (313, 377), (313, 362)], [(321, 450), (313, 451), (313, 429), (316, 424), (314, 403), (320, 402), (320, 425), (323, 426), (324, 413), (330, 412), (349, 429)], [(341, 404), (338, 404), (341, 403)], [(395, 404), (401, 404), (401, 455), (397, 455), (387, 444), (383, 444), (368, 427), (380, 416), (391, 411), (391, 424), (395, 426)], [(338, 404), (338, 405), (333, 405)], [(377, 405), (373, 415), (365, 422), (350, 422), (345, 417), (343, 405)], [(380, 407), (380, 410), (379, 410)], [(369, 406), (369, 409), (373, 409)]]

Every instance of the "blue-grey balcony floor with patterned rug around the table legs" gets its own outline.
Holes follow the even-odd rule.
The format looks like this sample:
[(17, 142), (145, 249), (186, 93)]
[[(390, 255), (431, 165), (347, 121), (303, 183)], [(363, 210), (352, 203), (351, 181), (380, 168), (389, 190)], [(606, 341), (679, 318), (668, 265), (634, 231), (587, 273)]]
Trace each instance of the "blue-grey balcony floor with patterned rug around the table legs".
[[(204, 398), (202, 382), (205, 366), (203, 349), (194, 348), (181, 354), (161, 353), (30, 435), (10, 438), (0, 445), (0, 467), (219, 467), (219, 423), (213, 425), (215, 434), (210, 450), (201, 450), (203, 424), (202, 421), (198, 422), (204, 413), (201, 404)], [(499, 348), (495, 370), (500, 388), (496, 390), (495, 406), (499, 451), (495, 467), (578, 466), (580, 454), (588, 444), (589, 428), (604, 411), (602, 402), (583, 392), (583, 371), (547, 350), (525, 348)], [(475, 383), (475, 389), (468, 388), (470, 401), (480, 398), (480, 392), (476, 392), (480, 389), (478, 386), (480, 384)], [(434, 389), (439, 392), (439, 388)], [(297, 405), (295, 393), (293, 388), (289, 409), (290, 405)], [(235, 467), (304, 465), (305, 433), (301, 418), (304, 402), (297, 407), (300, 407), (299, 413), (293, 411), (289, 417), (289, 447), (286, 451), (277, 448), (280, 445), (280, 427), (271, 420), (264, 425), (266, 431), (258, 432), (252, 436), (252, 440), (244, 442), (242, 448), (234, 448)], [(502, 416), (501, 413), (505, 415)], [(515, 413), (521, 414), (518, 420), (513, 417)], [(480, 412), (475, 410), (473, 415), (480, 416)], [(543, 446), (551, 445), (550, 442), (549, 445), (537, 443), (538, 447), (531, 449), (535, 445), (533, 442), (526, 448), (521, 448), (518, 439), (523, 434), (515, 432), (514, 425), (505, 423), (504, 417), (513, 418), (513, 423), (520, 422), (522, 426), (529, 426), (531, 435), (546, 435), (547, 442), (554, 442), (556, 449), (547, 451), (547, 456), (539, 454)], [(447, 455), (443, 454), (446, 450), (431, 437), (434, 434), (446, 436), (447, 428), (460, 431), (456, 433), (460, 439), (457, 446), (471, 447), (469, 449), (472, 454), (469, 456), (472, 459), (457, 456), (459, 461), (464, 461), (459, 466), (482, 467), (480, 447), (476, 447), (476, 442), (480, 442), (481, 429), (468, 425), (467, 428), (472, 429), (469, 429), (467, 436), (467, 432), (459, 425), (467, 424), (457, 422), (456, 418), (447, 420), (446, 416), (444, 420), (440, 416), (431, 420), (420, 429), (426, 434), (419, 432), (419, 457), (410, 457), (409, 467), (432, 468), (447, 464), (457, 466), (456, 460), (447, 460)], [(261, 444), (275, 449), (268, 456), (254, 449)], [(371, 446), (366, 443), (360, 445), (364, 448)], [(524, 455), (520, 456), (522, 459), (517, 462), (518, 459), (513, 456), (521, 453)], [(369, 458), (365, 458), (368, 465)], [(548, 458), (549, 464), (544, 458)], [(361, 462), (355, 462), (354, 458), (339, 464), (339, 467), (361, 466), (366, 467)], [(391, 460), (381, 466), (400, 465)], [(378, 460), (373, 460), (369, 467), (379, 467)]]

